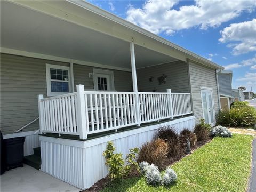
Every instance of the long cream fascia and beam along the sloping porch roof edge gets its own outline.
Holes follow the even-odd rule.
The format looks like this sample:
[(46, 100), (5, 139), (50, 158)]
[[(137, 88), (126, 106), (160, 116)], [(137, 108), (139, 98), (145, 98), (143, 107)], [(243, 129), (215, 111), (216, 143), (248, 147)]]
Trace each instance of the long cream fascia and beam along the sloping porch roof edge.
[[(100, 31), (101, 33), (108, 34), (119, 39), (123, 39), (127, 42), (131, 42), (132, 38), (134, 38), (134, 43), (137, 45), (160, 52), (162, 54), (169, 55), (182, 61), (186, 61), (186, 59), (189, 58), (191, 60), (195, 60), (197, 62), (202, 63), (203, 65), (209, 66), (214, 69), (224, 69), (222, 66), (217, 65), (212, 61), (209, 61), (193, 52), (183, 49), (182, 47), (175, 45), (174, 43), (171, 43), (162, 37), (159, 37), (145, 29), (142, 29), (141, 27), (134, 25), (129, 21), (121, 19), (114, 14), (111, 14), (105, 10), (100, 9), (97, 6), (94, 6), (82, 0), (69, 0), (61, 2), (11, 0), (11, 2), (21, 5), (23, 7), (27, 7), (29, 9), (49, 14), (52, 17), (57, 17), (65, 21), (75, 23), (79, 26)], [(108, 23), (104, 22), (100, 23), (100, 21), (97, 20), (95, 17), (87, 18), (87, 15), (85, 14), (77, 14), (81, 7), (83, 9), (89, 10), (94, 14), (98, 14), (101, 17), (107, 18), (110, 21), (114, 21), (113, 25), (115, 30), (113, 31), (113, 25), (108, 25)], [(149, 39), (147, 39), (147, 37), (149, 37)], [(160, 43), (160, 45), (157, 45), (156, 42), (152, 40), (156, 40)], [(167, 45), (167, 47), (169, 47), (169, 49), (172, 50), (166, 49), (164, 45)]]

